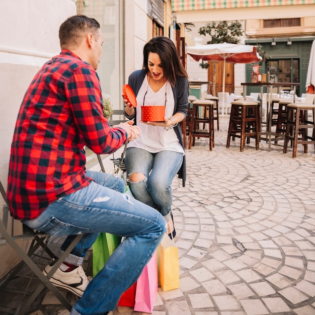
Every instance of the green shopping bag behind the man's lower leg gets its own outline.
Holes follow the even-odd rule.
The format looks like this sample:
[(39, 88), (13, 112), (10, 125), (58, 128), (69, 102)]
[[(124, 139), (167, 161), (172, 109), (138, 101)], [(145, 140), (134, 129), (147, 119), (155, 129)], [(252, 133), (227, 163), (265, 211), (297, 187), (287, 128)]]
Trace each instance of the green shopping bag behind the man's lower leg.
[(121, 242), (121, 237), (110, 234), (100, 233), (99, 237), (93, 244), (93, 277), (103, 269), (109, 256), (111, 256), (114, 250)]

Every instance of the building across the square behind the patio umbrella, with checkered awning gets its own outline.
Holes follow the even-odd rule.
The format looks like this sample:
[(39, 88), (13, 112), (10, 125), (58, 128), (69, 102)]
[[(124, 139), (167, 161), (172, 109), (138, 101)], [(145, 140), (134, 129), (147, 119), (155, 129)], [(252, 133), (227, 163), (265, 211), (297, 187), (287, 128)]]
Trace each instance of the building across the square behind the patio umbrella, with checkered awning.
[[(246, 35), (244, 43), (259, 44), (268, 53), (266, 61), (260, 65), (260, 73), (268, 73), (268, 80), (276, 82), (299, 82), (298, 95), (305, 93), (310, 46), (315, 39), (313, 0), (173, 0), (172, 4), (176, 21), (181, 25), (196, 21), (199, 25), (212, 21), (243, 21)], [(196, 45), (206, 44), (204, 36), (201, 38), (203, 42), (200, 36), (194, 38), (198, 40), (195, 40)], [(204, 70), (196, 70), (199, 64), (195, 61), (187, 60), (187, 65), (189, 74), (192, 73), (194, 77), (199, 74), (202, 81), (212, 77)], [(251, 80), (253, 65), (235, 65), (234, 89), (241, 89), (241, 82)], [(241, 75), (241, 72), (245, 75)], [(255, 88), (249, 90), (257, 92)]]

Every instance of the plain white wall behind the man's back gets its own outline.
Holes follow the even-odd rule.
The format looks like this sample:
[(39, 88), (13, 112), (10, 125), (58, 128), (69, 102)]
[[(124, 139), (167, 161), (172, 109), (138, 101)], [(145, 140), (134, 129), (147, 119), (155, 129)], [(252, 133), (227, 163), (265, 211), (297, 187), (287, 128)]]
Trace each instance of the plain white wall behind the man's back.
[[(75, 0), (1, 1), (0, 10), (0, 180), (7, 188), (10, 146), (21, 101), (34, 74), (60, 52), (58, 30), (76, 14)], [(0, 198), (0, 215), (4, 201)], [(17, 257), (0, 247), (0, 278)]]

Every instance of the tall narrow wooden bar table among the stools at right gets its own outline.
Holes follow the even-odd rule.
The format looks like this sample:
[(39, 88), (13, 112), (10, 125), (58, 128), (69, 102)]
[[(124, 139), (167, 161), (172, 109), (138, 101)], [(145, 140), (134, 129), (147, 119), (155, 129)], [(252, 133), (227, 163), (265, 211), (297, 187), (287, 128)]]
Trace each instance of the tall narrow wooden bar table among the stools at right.
[[(246, 99), (246, 88), (247, 87), (260, 87), (260, 100), (261, 100), (261, 105), (260, 105), (260, 136), (266, 135), (266, 138), (263, 138), (268, 141), (269, 144), (269, 151), (271, 149), (271, 141), (274, 140), (279, 140), (283, 138), (284, 136), (282, 134), (277, 134), (276, 132), (271, 131), (271, 120), (272, 120), (272, 111), (271, 111), (271, 102), (272, 102), (272, 88), (273, 87), (291, 87), (293, 88), (293, 98), (292, 98), (292, 103), (295, 102), (295, 93), (296, 93), (296, 87), (299, 86), (299, 83), (293, 83), (293, 82), (287, 82), (287, 83), (282, 83), (282, 82), (277, 82), (277, 83), (272, 83), (272, 82), (260, 82), (260, 83), (252, 83), (252, 82), (246, 82), (246, 83), (241, 83), (241, 86), (243, 86), (243, 96), (244, 99)], [(263, 101), (263, 93), (264, 93), (264, 87), (267, 89), (267, 115), (266, 115), (266, 131), (262, 131), (262, 113), (263, 113), (263, 106), (262, 106), (262, 101)], [(275, 136), (275, 138), (271, 138), (271, 136)], [(261, 137), (262, 139), (262, 137)]]

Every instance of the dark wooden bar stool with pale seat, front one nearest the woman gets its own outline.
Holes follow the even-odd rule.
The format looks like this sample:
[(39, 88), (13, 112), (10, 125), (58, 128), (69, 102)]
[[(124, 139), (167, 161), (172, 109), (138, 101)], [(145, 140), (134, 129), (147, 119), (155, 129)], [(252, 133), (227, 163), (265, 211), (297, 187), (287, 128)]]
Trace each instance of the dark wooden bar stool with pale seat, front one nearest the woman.
[[(195, 145), (195, 137), (209, 138), (209, 149), (214, 147), (214, 124), (213, 124), (213, 105), (214, 102), (210, 100), (196, 100), (193, 101), (192, 114), (189, 128), (189, 145)], [(201, 109), (201, 111), (199, 111)], [(202, 113), (200, 115), (200, 113)], [(209, 124), (209, 130), (200, 129), (200, 124)]]

